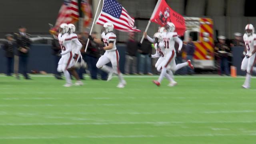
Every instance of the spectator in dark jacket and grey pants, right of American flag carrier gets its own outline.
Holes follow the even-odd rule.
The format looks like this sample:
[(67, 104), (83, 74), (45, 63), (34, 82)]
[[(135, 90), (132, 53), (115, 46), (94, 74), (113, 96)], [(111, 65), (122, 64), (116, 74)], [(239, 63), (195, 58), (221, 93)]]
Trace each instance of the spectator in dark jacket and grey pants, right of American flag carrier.
[(125, 74), (137, 74), (137, 51), (138, 42), (134, 40), (134, 33), (129, 34), (129, 40), (126, 42), (126, 56), (125, 56)]

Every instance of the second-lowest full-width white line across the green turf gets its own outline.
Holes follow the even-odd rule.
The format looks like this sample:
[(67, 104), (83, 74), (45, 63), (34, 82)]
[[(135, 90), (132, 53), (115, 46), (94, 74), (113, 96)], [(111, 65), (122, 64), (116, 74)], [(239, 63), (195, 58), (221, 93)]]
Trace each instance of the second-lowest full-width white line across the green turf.
[(60, 123), (6, 123), (0, 126), (65, 126), (65, 125), (130, 125), (130, 124), (152, 124), (152, 125), (170, 125), (170, 124), (227, 124), (227, 123), (256, 123), (256, 121), (215, 121), (215, 122), (60, 122)]

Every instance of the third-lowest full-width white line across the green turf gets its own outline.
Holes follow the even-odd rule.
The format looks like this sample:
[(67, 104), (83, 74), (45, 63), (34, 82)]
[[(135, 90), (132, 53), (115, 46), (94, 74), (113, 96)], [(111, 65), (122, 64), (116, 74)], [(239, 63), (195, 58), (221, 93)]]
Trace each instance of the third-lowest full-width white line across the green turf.
[(205, 111), (205, 112), (56, 112), (50, 114), (40, 114), (40, 113), (10, 113), (10, 112), (0, 112), (0, 115), (18, 115), (18, 116), (52, 116), (52, 115), (109, 115), (109, 114), (130, 114), (130, 115), (152, 115), (152, 114), (221, 114), (221, 113), (255, 113), (255, 110), (234, 110), (234, 111)]

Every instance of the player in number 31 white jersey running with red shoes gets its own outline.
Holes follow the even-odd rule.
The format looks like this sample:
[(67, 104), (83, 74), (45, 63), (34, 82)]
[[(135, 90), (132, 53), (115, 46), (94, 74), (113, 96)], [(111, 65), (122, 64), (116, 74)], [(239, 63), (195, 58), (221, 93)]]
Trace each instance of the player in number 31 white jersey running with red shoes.
[(158, 78), (158, 80), (153, 80), (153, 83), (156, 84), (157, 86), (160, 86), (162, 79), (166, 75), (167, 69), (170, 69), (173, 72), (175, 72), (176, 70), (184, 66), (190, 66), (190, 68), (194, 69), (194, 66), (191, 64), (190, 60), (182, 64), (176, 65), (176, 62), (175, 62), (176, 50), (174, 48), (174, 44), (175, 42), (179, 43), (178, 52), (180, 52), (182, 48), (182, 40), (180, 40), (180, 38), (178, 38), (178, 34), (174, 32), (175, 26), (172, 22), (167, 22), (164, 29), (166, 32), (162, 33), (162, 38), (163, 38), (164, 48), (165, 48), (165, 59), (160, 64), (160, 69), (162, 69), (160, 77)]

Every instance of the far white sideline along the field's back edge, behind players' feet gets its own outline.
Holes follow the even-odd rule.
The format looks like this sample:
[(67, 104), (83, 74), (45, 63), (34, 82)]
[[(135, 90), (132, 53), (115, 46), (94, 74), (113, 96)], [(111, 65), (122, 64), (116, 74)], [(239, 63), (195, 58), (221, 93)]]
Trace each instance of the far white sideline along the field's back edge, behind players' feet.
[[(199, 74), (198, 74), (199, 75)], [(32, 75), (31, 77), (54, 77), (52, 75)], [(0, 75), (0, 77), (7, 77), (5, 75)], [(90, 76), (85, 76), (86, 78), (90, 78)], [(114, 78), (117, 78), (118, 76), (113, 76)], [(159, 75), (154, 76), (126, 76), (124, 75), (124, 78), (158, 78)], [(232, 78), (231, 76), (205, 76), (202, 74), (202, 76), (175, 76), (175, 78)], [(237, 76), (236, 78), (245, 78), (245, 76)], [(256, 78), (256, 76), (252, 76), (251, 78)]]

